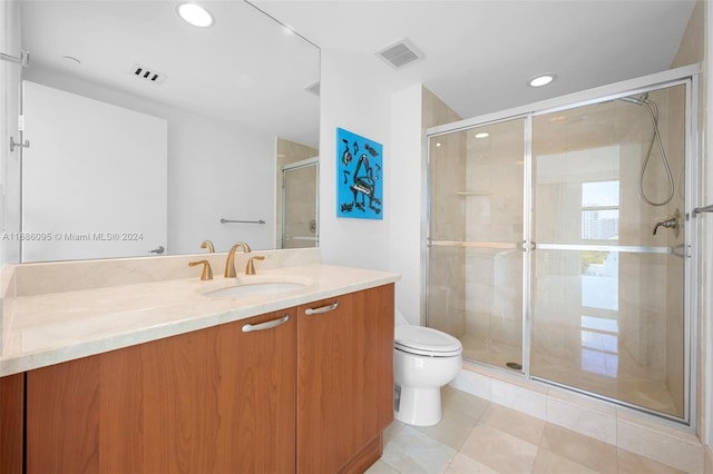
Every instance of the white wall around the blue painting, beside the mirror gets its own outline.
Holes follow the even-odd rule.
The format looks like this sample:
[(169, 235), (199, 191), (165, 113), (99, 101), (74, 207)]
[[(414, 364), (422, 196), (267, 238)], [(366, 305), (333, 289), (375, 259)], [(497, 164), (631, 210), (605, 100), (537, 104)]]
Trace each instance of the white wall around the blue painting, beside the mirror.
[[(394, 271), (397, 307), (420, 320), (421, 86), (375, 57), (322, 50), (320, 247), (322, 261)], [(360, 72), (365, 71), (365, 72)], [(336, 217), (336, 128), (383, 145), (383, 220)]]

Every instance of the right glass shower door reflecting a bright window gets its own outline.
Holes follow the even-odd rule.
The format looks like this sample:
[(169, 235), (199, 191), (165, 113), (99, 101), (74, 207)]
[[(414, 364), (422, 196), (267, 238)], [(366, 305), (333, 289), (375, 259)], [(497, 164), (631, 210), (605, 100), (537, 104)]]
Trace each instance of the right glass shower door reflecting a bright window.
[(530, 375), (684, 417), (685, 87), (533, 119)]

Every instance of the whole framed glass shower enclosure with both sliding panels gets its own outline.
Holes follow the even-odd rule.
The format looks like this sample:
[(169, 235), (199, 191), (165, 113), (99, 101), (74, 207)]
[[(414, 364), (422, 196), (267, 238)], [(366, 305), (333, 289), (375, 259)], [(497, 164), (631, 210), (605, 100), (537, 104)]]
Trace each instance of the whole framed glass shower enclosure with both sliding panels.
[(463, 358), (690, 422), (695, 75), (674, 73), (429, 129), (427, 324)]

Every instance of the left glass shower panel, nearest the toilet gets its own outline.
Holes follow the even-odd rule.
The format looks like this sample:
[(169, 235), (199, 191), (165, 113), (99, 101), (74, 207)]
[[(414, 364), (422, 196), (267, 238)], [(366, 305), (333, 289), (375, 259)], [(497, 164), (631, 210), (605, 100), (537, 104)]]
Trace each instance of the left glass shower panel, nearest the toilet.
[(522, 369), (525, 119), (429, 139), (427, 324)]

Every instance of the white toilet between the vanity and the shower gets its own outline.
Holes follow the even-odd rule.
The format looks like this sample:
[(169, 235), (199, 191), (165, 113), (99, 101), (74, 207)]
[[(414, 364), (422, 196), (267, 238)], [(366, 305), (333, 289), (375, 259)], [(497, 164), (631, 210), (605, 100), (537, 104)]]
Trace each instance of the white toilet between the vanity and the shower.
[(462, 365), (460, 340), (429, 327), (412, 326), (397, 312), (393, 342), (394, 417), (416, 426), (441, 421), (441, 387)]

